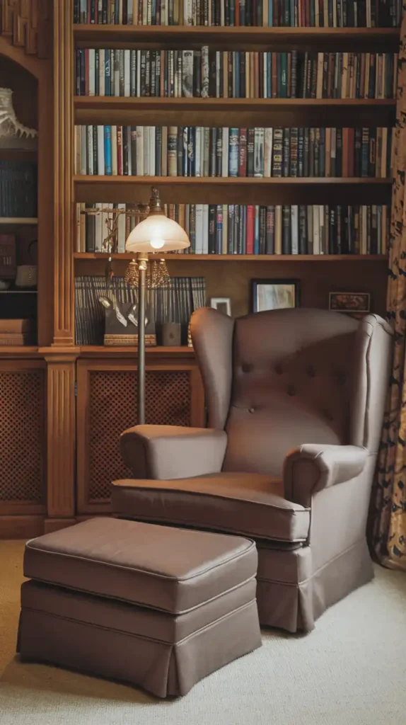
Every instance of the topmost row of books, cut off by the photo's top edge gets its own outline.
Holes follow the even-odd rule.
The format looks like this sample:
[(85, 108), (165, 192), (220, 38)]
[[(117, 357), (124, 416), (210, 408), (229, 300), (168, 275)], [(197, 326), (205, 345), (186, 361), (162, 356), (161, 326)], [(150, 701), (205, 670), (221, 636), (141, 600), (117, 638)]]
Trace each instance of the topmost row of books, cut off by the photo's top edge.
[(396, 27), (401, 0), (75, 0), (75, 23)]

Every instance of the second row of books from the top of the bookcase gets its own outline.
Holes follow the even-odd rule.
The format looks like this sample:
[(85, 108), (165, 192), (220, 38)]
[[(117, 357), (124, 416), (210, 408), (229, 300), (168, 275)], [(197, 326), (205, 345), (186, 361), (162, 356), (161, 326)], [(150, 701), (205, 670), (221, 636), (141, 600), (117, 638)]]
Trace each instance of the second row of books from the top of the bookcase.
[(394, 53), (77, 49), (77, 96), (392, 98)]

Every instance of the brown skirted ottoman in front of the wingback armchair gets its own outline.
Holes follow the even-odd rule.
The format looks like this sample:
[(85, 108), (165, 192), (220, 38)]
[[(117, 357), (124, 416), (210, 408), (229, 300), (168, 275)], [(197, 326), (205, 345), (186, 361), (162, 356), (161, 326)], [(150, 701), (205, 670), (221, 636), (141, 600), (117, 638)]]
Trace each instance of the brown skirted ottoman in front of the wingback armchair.
[(28, 542), (17, 651), (185, 695), (261, 645), (257, 552), (241, 537), (94, 518)]

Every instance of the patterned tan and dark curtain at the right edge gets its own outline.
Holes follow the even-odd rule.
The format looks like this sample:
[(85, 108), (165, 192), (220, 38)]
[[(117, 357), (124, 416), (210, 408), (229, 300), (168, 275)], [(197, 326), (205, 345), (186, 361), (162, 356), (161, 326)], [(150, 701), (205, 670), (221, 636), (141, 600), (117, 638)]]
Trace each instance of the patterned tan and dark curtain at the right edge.
[(389, 568), (406, 570), (406, 12), (398, 65), (387, 315), (394, 362), (372, 497), (370, 543)]

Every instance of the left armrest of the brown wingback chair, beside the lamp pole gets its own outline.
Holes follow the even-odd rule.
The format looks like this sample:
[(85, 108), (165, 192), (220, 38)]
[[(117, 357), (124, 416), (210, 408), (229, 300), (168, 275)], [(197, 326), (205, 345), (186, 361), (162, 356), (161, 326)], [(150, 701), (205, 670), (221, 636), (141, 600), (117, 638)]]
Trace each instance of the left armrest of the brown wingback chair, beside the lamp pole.
[(187, 479), (219, 473), (227, 433), (215, 428), (135, 426), (120, 436), (125, 465), (136, 479)]

